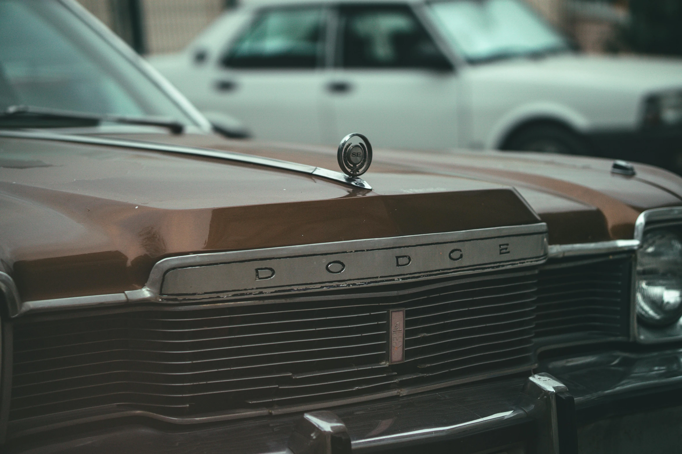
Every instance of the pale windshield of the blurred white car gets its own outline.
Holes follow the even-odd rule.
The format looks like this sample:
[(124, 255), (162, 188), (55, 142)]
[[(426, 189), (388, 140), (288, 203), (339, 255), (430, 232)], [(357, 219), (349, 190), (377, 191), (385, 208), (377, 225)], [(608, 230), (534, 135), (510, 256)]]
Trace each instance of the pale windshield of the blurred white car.
[(469, 62), (569, 50), (559, 33), (516, 0), (437, 1), (430, 11)]

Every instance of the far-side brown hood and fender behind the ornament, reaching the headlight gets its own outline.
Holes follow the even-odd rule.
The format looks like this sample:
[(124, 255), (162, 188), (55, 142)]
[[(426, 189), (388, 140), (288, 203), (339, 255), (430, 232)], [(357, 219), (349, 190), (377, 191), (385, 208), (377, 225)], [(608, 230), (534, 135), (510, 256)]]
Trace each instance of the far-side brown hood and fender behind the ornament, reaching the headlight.
[[(332, 166), (336, 159), (333, 148), (323, 146), (225, 141), (211, 135), (175, 140), (308, 165)], [(374, 182), (378, 172), (421, 172), (516, 187), (548, 224), (550, 244), (629, 239), (643, 210), (682, 204), (679, 176), (636, 165), (633, 178), (611, 174), (611, 165), (607, 159), (530, 152), (376, 150), (366, 179)]]

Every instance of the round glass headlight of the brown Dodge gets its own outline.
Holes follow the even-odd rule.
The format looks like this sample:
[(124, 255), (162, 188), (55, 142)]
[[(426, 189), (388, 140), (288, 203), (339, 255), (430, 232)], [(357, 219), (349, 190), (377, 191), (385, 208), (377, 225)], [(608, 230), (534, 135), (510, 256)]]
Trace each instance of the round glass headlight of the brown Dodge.
[(682, 240), (672, 231), (647, 233), (637, 253), (637, 315), (646, 325), (670, 325), (682, 316)]

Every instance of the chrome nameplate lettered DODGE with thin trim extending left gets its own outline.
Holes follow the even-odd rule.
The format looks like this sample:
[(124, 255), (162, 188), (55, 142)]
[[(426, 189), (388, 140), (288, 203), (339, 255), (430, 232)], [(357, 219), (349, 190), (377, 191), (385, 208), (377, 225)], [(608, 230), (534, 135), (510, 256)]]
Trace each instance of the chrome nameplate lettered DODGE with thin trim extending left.
[[(130, 303), (224, 302), (344, 290), (539, 265), (548, 255), (547, 225), (537, 223), (426, 235), (170, 257), (152, 268), (143, 289), (21, 302), (7, 277), (0, 287), (11, 317)], [(1, 277), (1, 274), (0, 274)]]

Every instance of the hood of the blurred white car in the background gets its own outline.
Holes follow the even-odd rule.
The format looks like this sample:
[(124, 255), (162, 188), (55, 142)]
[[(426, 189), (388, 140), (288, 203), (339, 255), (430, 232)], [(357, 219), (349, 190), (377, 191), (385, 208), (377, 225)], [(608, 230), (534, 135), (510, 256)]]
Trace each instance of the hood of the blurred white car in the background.
[(603, 88), (641, 94), (682, 88), (682, 59), (559, 54), (474, 65), (468, 74), (481, 82), (497, 80), (559, 88), (584, 86), (591, 90)]

